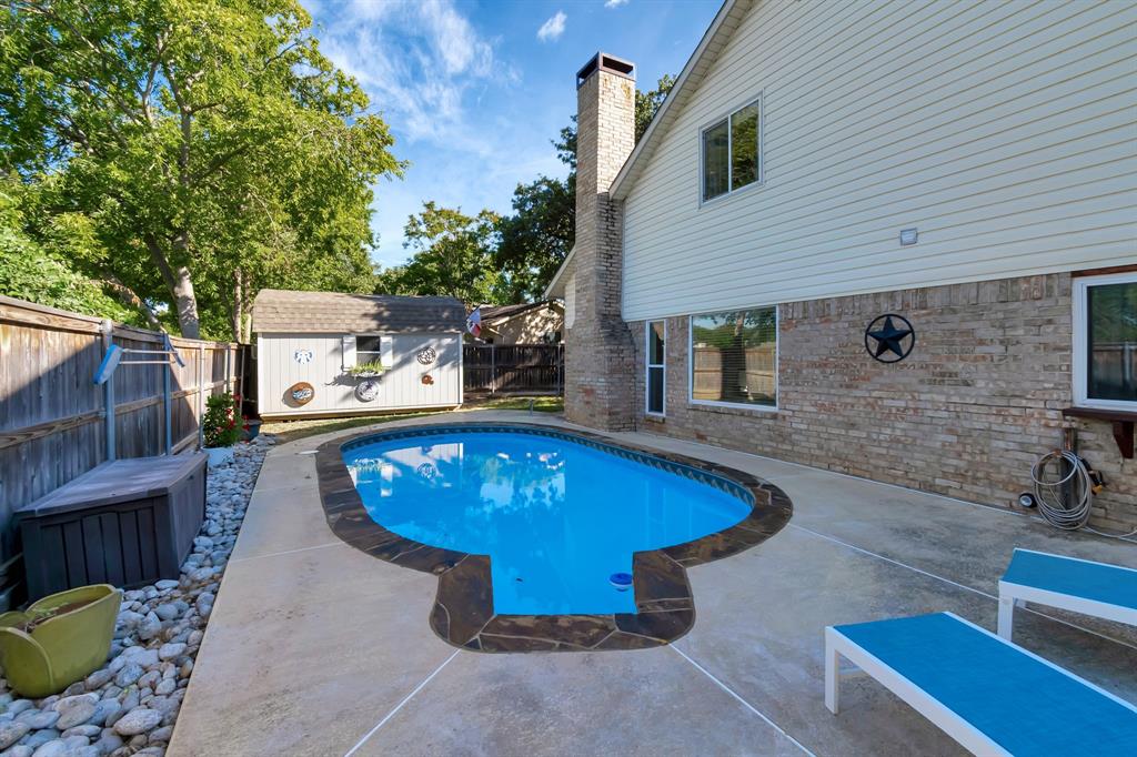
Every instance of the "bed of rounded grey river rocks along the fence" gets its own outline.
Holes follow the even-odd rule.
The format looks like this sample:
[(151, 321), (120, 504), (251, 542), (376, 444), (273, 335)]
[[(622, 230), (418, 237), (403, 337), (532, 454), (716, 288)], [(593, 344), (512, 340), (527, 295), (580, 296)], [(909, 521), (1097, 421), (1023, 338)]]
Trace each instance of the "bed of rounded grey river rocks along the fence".
[(0, 679), (0, 757), (160, 757), (272, 436), (239, 444), (206, 479), (206, 518), (177, 581), (123, 591), (108, 663), (59, 694), (22, 699)]

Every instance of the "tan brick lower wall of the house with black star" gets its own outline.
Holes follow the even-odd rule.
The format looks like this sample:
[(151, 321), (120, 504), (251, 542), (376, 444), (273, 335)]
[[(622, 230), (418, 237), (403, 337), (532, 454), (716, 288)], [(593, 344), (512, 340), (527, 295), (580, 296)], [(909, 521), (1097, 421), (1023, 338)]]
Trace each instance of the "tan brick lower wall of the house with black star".
[[(898, 313), (912, 355), (877, 363), (864, 328)], [(631, 324), (638, 426), (988, 505), (1030, 489), (1030, 465), (1061, 442), (1071, 404), (1068, 274), (779, 306), (779, 409), (688, 401), (688, 319), (667, 319), (666, 418), (644, 415), (645, 324)], [(1137, 526), (1137, 460), (1109, 424), (1079, 422), (1080, 451), (1107, 488), (1092, 525)]]

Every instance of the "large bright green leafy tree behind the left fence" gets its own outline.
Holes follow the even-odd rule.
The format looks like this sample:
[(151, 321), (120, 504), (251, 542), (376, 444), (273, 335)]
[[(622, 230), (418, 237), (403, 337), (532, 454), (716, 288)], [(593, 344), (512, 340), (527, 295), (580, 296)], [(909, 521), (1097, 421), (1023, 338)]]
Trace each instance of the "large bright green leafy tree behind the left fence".
[[(76, 265), (234, 336), (265, 285), (358, 291), (368, 189), (402, 166), (294, 0), (10, 0), (0, 168), (85, 217)], [(45, 222), (44, 222), (45, 225)]]

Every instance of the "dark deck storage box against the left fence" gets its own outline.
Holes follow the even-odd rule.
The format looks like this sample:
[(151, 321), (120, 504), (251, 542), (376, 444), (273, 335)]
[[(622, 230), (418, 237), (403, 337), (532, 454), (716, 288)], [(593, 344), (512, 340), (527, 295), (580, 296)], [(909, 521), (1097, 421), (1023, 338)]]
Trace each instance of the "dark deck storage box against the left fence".
[(176, 579), (205, 518), (206, 460), (103, 463), (17, 510), (28, 597)]

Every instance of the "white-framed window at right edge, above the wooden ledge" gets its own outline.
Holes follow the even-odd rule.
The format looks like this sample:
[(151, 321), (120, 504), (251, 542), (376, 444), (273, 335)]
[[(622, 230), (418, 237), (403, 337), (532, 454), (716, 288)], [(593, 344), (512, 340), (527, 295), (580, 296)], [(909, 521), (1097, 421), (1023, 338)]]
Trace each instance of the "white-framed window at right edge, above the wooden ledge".
[(1074, 401), (1137, 410), (1137, 273), (1074, 278)]

